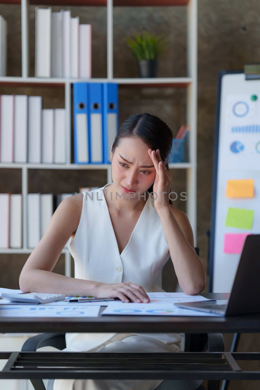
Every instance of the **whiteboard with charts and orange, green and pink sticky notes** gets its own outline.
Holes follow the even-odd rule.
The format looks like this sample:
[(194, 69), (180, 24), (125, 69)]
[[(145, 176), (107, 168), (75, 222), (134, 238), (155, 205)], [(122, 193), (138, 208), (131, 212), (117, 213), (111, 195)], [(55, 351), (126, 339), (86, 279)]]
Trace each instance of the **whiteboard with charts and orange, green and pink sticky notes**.
[[(243, 191), (244, 183), (248, 183), (246, 179), (253, 183), (253, 196), (227, 196), (228, 184), (238, 183)], [(248, 218), (250, 221), (246, 222)], [(218, 74), (214, 138), (210, 292), (231, 291), (242, 252), (235, 240), (242, 240), (245, 234), (259, 233), (260, 80), (246, 80), (242, 71), (221, 71)]]

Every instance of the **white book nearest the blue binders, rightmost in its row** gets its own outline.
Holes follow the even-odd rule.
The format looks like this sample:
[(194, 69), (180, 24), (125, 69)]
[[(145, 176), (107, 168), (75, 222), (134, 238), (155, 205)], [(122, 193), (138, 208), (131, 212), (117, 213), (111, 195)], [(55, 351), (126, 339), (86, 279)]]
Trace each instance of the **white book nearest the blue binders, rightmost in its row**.
[(54, 163), (66, 163), (65, 108), (54, 110)]

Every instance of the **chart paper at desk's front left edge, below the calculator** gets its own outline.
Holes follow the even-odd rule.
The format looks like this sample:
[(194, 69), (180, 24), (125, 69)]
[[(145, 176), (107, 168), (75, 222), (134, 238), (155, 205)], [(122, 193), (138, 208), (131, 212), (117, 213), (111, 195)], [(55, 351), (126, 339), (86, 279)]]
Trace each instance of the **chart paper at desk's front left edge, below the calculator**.
[(100, 306), (2, 305), (0, 317), (98, 317)]

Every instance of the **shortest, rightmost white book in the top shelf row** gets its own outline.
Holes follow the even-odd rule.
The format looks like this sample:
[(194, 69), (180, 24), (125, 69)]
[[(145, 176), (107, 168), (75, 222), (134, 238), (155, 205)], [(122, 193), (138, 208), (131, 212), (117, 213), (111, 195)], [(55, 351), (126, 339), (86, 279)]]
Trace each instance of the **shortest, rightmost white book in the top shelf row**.
[(80, 78), (91, 78), (92, 73), (92, 26), (80, 25)]

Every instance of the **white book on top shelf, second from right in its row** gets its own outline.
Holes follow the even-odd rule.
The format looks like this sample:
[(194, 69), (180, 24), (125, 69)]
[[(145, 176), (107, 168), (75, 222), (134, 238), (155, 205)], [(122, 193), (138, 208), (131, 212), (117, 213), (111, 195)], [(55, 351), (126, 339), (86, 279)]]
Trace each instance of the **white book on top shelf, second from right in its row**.
[(79, 77), (79, 30), (80, 18), (71, 18), (71, 77)]

